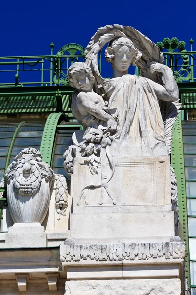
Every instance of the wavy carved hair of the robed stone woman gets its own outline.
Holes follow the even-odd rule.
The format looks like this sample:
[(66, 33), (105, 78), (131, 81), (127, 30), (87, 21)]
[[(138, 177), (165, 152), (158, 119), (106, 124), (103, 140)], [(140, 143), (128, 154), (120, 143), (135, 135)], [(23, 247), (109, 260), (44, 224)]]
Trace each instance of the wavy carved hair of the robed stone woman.
[(133, 42), (126, 37), (116, 38), (109, 43), (109, 46), (105, 50), (106, 61), (113, 63), (115, 52), (124, 45), (126, 45), (130, 49), (130, 52), (132, 54), (131, 64), (136, 65), (137, 61), (141, 58), (142, 53), (137, 48), (135, 48)]

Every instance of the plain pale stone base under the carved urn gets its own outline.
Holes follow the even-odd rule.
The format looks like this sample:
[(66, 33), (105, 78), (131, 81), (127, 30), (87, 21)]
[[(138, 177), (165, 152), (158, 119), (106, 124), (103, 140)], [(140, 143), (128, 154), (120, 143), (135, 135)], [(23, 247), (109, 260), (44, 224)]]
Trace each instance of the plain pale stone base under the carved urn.
[(5, 236), (6, 248), (46, 247), (47, 236), (39, 222), (15, 223)]

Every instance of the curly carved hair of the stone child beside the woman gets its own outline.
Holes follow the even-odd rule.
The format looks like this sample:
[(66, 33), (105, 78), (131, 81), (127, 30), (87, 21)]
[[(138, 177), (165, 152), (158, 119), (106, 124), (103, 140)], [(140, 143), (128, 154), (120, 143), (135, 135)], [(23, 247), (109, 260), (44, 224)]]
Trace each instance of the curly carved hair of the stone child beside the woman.
[(92, 70), (91, 70), (90, 66), (88, 66), (84, 62), (75, 62), (68, 69), (67, 77), (68, 77), (70, 86), (75, 87), (73, 75), (74, 74), (80, 74), (80, 73), (88, 74), (88, 78), (89, 78), (90, 83), (94, 83), (95, 77), (93, 76), (93, 73), (92, 73)]

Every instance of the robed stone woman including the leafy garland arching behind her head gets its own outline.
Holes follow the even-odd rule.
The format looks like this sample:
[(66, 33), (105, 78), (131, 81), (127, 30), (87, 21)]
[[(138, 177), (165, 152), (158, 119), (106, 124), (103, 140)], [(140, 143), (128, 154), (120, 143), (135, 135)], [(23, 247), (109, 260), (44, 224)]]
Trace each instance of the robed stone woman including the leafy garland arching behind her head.
[[(97, 54), (108, 42), (105, 57), (112, 64), (113, 75), (105, 80), (98, 71)], [(102, 92), (109, 108), (118, 110), (119, 128), (113, 136), (112, 154), (169, 154), (172, 129), (170, 122), (166, 132), (165, 123), (170, 112), (175, 112), (170, 118), (172, 124), (176, 118), (179, 94), (172, 70), (162, 64), (158, 47), (132, 27), (105, 26), (91, 38), (86, 57), (96, 77), (97, 92)], [(131, 64), (141, 69), (142, 77), (128, 74)], [(170, 139), (165, 138), (168, 133)]]

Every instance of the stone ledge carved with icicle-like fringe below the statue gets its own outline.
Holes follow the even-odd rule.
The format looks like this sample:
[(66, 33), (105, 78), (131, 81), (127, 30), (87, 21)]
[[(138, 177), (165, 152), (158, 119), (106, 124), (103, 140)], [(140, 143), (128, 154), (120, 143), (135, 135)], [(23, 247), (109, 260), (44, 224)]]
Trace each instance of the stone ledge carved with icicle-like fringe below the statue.
[[(88, 264), (88, 262), (121, 262), (146, 261), (160, 259), (183, 262), (185, 258), (184, 242), (160, 243), (119, 243), (119, 244), (75, 244), (60, 245), (62, 265)], [(155, 261), (154, 261), (155, 262)]]

